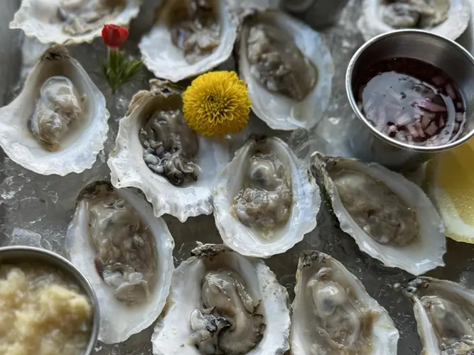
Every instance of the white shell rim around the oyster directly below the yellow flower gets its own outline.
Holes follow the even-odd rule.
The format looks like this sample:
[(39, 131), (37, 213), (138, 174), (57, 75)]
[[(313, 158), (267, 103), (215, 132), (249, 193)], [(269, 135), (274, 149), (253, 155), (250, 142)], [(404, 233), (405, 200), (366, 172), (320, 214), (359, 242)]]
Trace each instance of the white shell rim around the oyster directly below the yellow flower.
[[(245, 158), (248, 157), (249, 154), (252, 153), (252, 150), (258, 146), (259, 144), (264, 141), (265, 144), (273, 144), (277, 146), (281, 146), (281, 151), (286, 153), (288, 160), (292, 163), (291, 169), (288, 170), (289, 175), (291, 176), (291, 191), (293, 192), (293, 204), (291, 206), (291, 215), (289, 220), (286, 222), (285, 226), (282, 226), (282, 229), (286, 229), (287, 226), (291, 224), (291, 229), (286, 231), (285, 234), (282, 234), (281, 238), (272, 242), (271, 244), (257, 244), (255, 240), (258, 240), (258, 236), (255, 236), (252, 232), (252, 227), (245, 226), (242, 222), (239, 222), (237, 217), (232, 216), (230, 213), (230, 206), (232, 202), (228, 200), (228, 185), (232, 182), (232, 171), (235, 165), (242, 165), (244, 164)], [(272, 149), (272, 151), (274, 151)], [(298, 168), (298, 163), (301, 164), (301, 168)], [(294, 172), (294, 169), (298, 168), (298, 172)], [(238, 171), (238, 170), (237, 170)], [(296, 180), (295, 177), (298, 179)], [(298, 185), (295, 184), (295, 181), (298, 181)], [(301, 200), (295, 196), (294, 192), (296, 186), (303, 186), (311, 188), (308, 190), (305, 188), (303, 193), (298, 194), (298, 197), (313, 197), (311, 204), (306, 204), (303, 206), (307, 214), (311, 213), (311, 216), (314, 218), (310, 218), (311, 216), (306, 217), (303, 222), (299, 222), (298, 224), (292, 224), (293, 219), (298, 218), (298, 215), (301, 214), (301, 209), (299, 210), (298, 215), (294, 214), (294, 207), (295, 204), (300, 202)], [(237, 190), (238, 191), (238, 190)], [(300, 196), (302, 195), (302, 196)], [(232, 200), (231, 200), (232, 201)], [(319, 186), (314, 181), (311, 174), (308, 173), (306, 166), (303, 165), (303, 162), (299, 160), (296, 155), (291, 151), (289, 146), (286, 145), (284, 141), (280, 138), (270, 136), (270, 137), (252, 137), (247, 140), (247, 142), (239, 148), (234, 155), (234, 158), (227, 163), (225, 168), (221, 171), (221, 173), (217, 176), (215, 180), (215, 187), (212, 191), (212, 204), (214, 206), (214, 220), (215, 226), (217, 227), (217, 231), (219, 231), (220, 237), (222, 242), (228, 246), (230, 249), (236, 251), (237, 253), (242, 254), (243, 256), (251, 256), (256, 258), (269, 258), (279, 253), (284, 253), (289, 251), (289, 249), (293, 248), (297, 243), (303, 240), (304, 236), (309, 232), (313, 231), (313, 229), (317, 226), (317, 216), (318, 212), (321, 209), (321, 190)], [(222, 205), (222, 207), (220, 207)], [(227, 206), (229, 208), (227, 208)], [(295, 227), (298, 226), (299, 228), (296, 229)], [(235, 240), (235, 235), (242, 234), (242, 230), (246, 231), (246, 239), (252, 238), (254, 240), (247, 240), (244, 243), (244, 240), (239, 238), (238, 241)], [(281, 244), (281, 241), (290, 235), (289, 242), (286, 244)], [(269, 246), (274, 246), (276, 251), (269, 251)]]

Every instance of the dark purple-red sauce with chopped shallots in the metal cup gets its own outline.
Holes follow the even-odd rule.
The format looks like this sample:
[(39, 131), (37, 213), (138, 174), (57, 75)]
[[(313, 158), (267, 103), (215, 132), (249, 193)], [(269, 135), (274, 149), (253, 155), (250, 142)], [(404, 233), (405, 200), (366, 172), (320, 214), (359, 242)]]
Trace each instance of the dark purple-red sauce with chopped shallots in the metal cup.
[(375, 62), (362, 73), (355, 92), (370, 123), (397, 141), (439, 146), (463, 131), (465, 102), (456, 83), (421, 60)]

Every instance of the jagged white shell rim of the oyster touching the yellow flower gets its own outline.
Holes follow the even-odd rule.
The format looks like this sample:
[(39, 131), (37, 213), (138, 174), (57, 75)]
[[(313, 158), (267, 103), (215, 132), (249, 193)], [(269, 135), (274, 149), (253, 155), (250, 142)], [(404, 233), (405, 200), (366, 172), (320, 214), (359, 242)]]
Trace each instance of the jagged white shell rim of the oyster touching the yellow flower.
[[(126, 115), (120, 119), (119, 131), (117, 133), (117, 138), (115, 139), (115, 146), (109, 154), (107, 165), (110, 169), (111, 181), (114, 187), (138, 188), (144, 192), (146, 200), (152, 204), (155, 217), (161, 217), (163, 214), (171, 214), (183, 223), (189, 217), (196, 217), (201, 214), (212, 214), (212, 211), (214, 210), (212, 206), (212, 187), (214, 186), (215, 179), (212, 179), (208, 184), (208, 195), (206, 197), (195, 196), (195, 191), (185, 194), (186, 189), (193, 187), (176, 187), (171, 185), (166, 178), (153, 173), (149, 167), (146, 166), (146, 163), (143, 160), (143, 152), (138, 138), (139, 129), (136, 127), (140, 119), (139, 114), (141, 114), (141, 110), (144, 109), (144, 107), (146, 107), (146, 105), (153, 99), (166, 100), (168, 97), (173, 95), (179, 94), (181, 96), (181, 90), (173, 88), (173, 85), (168, 87), (168, 84), (169, 82), (163, 80), (152, 79), (150, 80), (149, 91), (141, 90), (134, 95), (129, 104), (129, 110), (126, 112)], [(141, 150), (139, 159), (136, 159), (136, 152), (131, 152), (131, 147), (129, 147), (130, 139), (138, 142), (135, 143), (140, 146)], [(208, 146), (208, 148), (212, 148), (217, 169), (220, 166), (223, 168), (230, 158), (229, 147), (227, 147), (227, 144), (221, 141), (208, 140), (199, 135), (198, 139), (200, 151), (203, 149), (204, 145)], [(218, 149), (216, 149), (216, 147)], [(211, 151), (211, 149), (209, 149), (209, 151)], [(226, 159), (222, 158), (220, 155), (225, 155)], [(126, 165), (126, 170), (122, 169), (121, 165)], [(146, 172), (145, 174), (148, 178), (144, 178), (143, 173), (141, 172)], [(166, 189), (171, 190), (171, 192), (166, 192), (165, 194), (162, 192), (160, 193), (160, 190), (157, 192), (156, 187), (147, 183), (146, 180), (150, 179), (159, 187), (165, 187)], [(204, 186), (194, 187), (194, 190), (199, 190), (201, 188), (204, 188)], [(183, 203), (180, 196), (190, 195), (195, 197), (194, 201)]]

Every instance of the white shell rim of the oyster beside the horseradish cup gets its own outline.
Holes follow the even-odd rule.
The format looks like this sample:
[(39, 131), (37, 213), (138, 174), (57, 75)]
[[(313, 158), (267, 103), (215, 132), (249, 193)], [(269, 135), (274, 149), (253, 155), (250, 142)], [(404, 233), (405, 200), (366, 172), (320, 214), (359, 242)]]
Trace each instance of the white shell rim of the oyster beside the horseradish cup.
[[(94, 266), (94, 263), (92, 262), (92, 270), (90, 268), (90, 264), (87, 264), (87, 262), (91, 263), (90, 260), (85, 260), (86, 259), (86, 256), (85, 256), (85, 253), (72, 253), (72, 248), (74, 247), (80, 247), (80, 246), (85, 246), (85, 244), (88, 244), (91, 248), (91, 253), (92, 255), (94, 255), (95, 251), (92, 251), (92, 249), (94, 248), (90, 241), (85, 241), (85, 240), (80, 240), (78, 241), (80, 238), (77, 238), (78, 236), (81, 236), (80, 234), (80, 231), (78, 231), (78, 229), (80, 229), (80, 225), (75, 225), (75, 223), (80, 223), (81, 221), (77, 221), (77, 219), (81, 219), (81, 218), (85, 218), (87, 220), (87, 217), (80, 217), (80, 214), (81, 213), (85, 213), (85, 212), (82, 212), (80, 210), (80, 200), (82, 198), (84, 198), (84, 196), (82, 195), (83, 192), (87, 189), (90, 189), (92, 187), (95, 187), (97, 185), (100, 185), (100, 184), (104, 184), (104, 185), (109, 185), (109, 187), (117, 194), (118, 197), (122, 197), (124, 198), (124, 200), (126, 200), (126, 202), (130, 203), (132, 207), (134, 207), (134, 210), (140, 214), (140, 217), (141, 219), (144, 220), (144, 222), (147, 224), (147, 226), (149, 226), (149, 223), (147, 222), (150, 222), (152, 221), (153, 224), (156, 224), (157, 226), (157, 229), (160, 229), (163, 233), (159, 236), (160, 239), (157, 238), (156, 234), (152, 234), (153, 236), (153, 239), (155, 241), (155, 248), (156, 248), (156, 253), (157, 253), (157, 260), (158, 260), (158, 266), (157, 266), (157, 269), (158, 269), (158, 273), (156, 273), (156, 285), (155, 285), (155, 288), (154, 288), (154, 295), (153, 296), (156, 296), (156, 302), (150, 302), (150, 301), (146, 301), (144, 302), (143, 304), (139, 304), (139, 305), (135, 305), (135, 310), (132, 310), (132, 312), (138, 312), (138, 310), (136, 310), (136, 308), (145, 308), (146, 309), (146, 305), (149, 305), (149, 308), (152, 308), (153, 311), (152, 312), (147, 312), (146, 313), (146, 317), (144, 317), (144, 320), (141, 324), (139, 324), (139, 326), (136, 328), (136, 329), (139, 329), (139, 330), (135, 330), (135, 329), (131, 329), (127, 332), (124, 333), (124, 335), (122, 337), (117, 337), (117, 332), (114, 332), (114, 334), (112, 334), (112, 336), (110, 336), (107, 332), (107, 330), (104, 330), (104, 317), (106, 316), (106, 313), (108, 312), (105, 312), (104, 309), (109, 309), (109, 307), (104, 307), (104, 305), (109, 305), (112, 307), (112, 311), (114, 310), (113, 309), (113, 305), (115, 306), (119, 306), (120, 308), (124, 308), (124, 310), (129, 310), (129, 306), (125, 305), (123, 302), (120, 302), (119, 300), (116, 300), (114, 295), (113, 295), (113, 291), (111, 288), (109, 288), (107, 285), (104, 284), (102, 278), (100, 278), (100, 276), (98, 275), (96, 269), (95, 269), (95, 266)], [(134, 202), (130, 202), (131, 200), (134, 200)], [(136, 206), (135, 204), (139, 204), (139, 203), (144, 203), (144, 213), (141, 213), (139, 212), (137, 209), (136, 209)], [(149, 214), (148, 217), (144, 217), (144, 214)], [(148, 219), (149, 221), (146, 221), (146, 219)], [(87, 239), (88, 239), (88, 236), (86, 236)], [(149, 327), (151, 324), (153, 324), (153, 322), (156, 321), (156, 319), (159, 317), (159, 315), (161, 314), (161, 312), (163, 311), (163, 308), (165, 307), (166, 305), (166, 299), (168, 297), (168, 294), (169, 294), (169, 289), (171, 287), (171, 278), (172, 278), (172, 273), (174, 271), (174, 263), (173, 263), (173, 250), (174, 250), (174, 247), (175, 247), (175, 243), (174, 243), (174, 239), (173, 239), (173, 236), (171, 235), (171, 232), (169, 231), (168, 229), (168, 225), (166, 224), (166, 222), (164, 221), (164, 219), (162, 218), (156, 218), (154, 217), (153, 215), (153, 211), (151, 209), (151, 206), (149, 205), (149, 202), (146, 201), (146, 199), (144, 198), (143, 195), (141, 195), (141, 192), (137, 192), (131, 188), (123, 188), (123, 189), (117, 189), (115, 187), (112, 186), (112, 184), (110, 184), (109, 181), (107, 180), (96, 180), (94, 182), (91, 182), (90, 184), (88, 184), (85, 188), (83, 188), (81, 190), (81, 192), (79, 193), (79, 196), (77, 197), (77, 203), (76, 203), (76, 207), (75, 207), (75, 212), (74, 212), (74, 216), (72, 217), (71, 219), (71, 222), (70, 224), (68, 225), (68, 230), (67, 230), (67, 233), (66, 233), (66, 237), (65, 237), (65, 240), (66, 240), (66, 250), (67, 250), (67, 255), (68, 255), (68, 259), (74, 263), (75, 266), (77, 266), (77, 268), (80, 270), (80, 272), (85, 275), (85, 277), (87, 278), (87, 280), (89, 280), (91, 286), (92, 286), (92, 289), (94, 290), (95, 292), (95, 295), (97, 296), (97, 302), (99, 304), (99, 308), (100, 308), (100, 312), (101, 312), (101, 322), (100, 322), (100, 326), (99, 326), (99, 335), (98, 335), (98, 340), (100, 342), (103, 342), (104, 344), (116, 344), (116, 343), (120, 343), (120, 342), (125, 342), (127, 339), (129, 339), (129, 337), (131, 337), (132, 335), (134, 334), (138, 334), (139, 332), (141, 332), (142, 330), (146, 329), (147, 327)], [(78, 245), (79, 244), (79, 245)], [(160, 252), (160, 246), (158, 244), (161, 244), (163, 246), (163, 251)], [(162, 271), (162, 268), (159, 266), (160, 264), (160, 261), (163, 259), (163, 255), (164, 255), (164, 266), (166, 267), (166, 270)], [(76, 257), (77, 256), (77, 257)], [(168, 259), (168, 260), (166, 260)], [(89, 265), (89, 266), (87, 266)], [(93, 275), (93, 277), (91, 278), (90, 275)], [(163, 282), (159, 283), (159, 280), (160, 278), (163, 278)], [(99, 290), (99, 291), (97, 291)], [(102, 293), (101, 290), (105, 290), (104, 293)], [(107, 298), (103, 298), (101, 297), (101, 295), (104, 294), (106, 296), (109, 296)], [(153, 297), (152, 296), (152, 297)], [(102, 302), (104, 303), (104, 305), (101, 305), (101, 300), (103, 300)], [(123, 310), (122, 310), (123, 311)], [(112, 313), (113, 315), (113, 313)], [(113, 318), (113, 317), (112, 317)], [(140, 318), (143, 318), (140, 316)], [(114, 319), (114, 324), (116, 324), (118, 321), (117, 319)], [(126, 328), (127, 327), (127, 321), (129, 321), (129, 318), (127, 318), (127, 320), (125, 322), (122, 322), (122, 325)], [(107, 337), (104, 338), (104, 333), (107, 334)]]

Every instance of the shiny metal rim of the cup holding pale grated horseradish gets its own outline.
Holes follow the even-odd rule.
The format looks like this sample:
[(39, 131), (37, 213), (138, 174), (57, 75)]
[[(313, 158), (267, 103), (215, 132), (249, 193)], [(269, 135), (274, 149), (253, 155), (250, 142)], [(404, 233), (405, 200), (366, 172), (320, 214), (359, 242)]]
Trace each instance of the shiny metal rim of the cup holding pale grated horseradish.
[[(97, 343), (97, 338), (99, 337), (100, 310), (97, 295), (95, 295), (94, 288), (92, 288), (92, 284), (89, 282), (89, 280), (87, 280), (87, 278), (79, 270), (79, 268), (77, 268), (73, 263), (68, 261), (67, 258), (60, 256), (58, 253), (54, 253), (53, 251), (48, 251), (46, 249), (38, 248), (36, 246), (2, 246), (0, 247), (0, 256), (4, 253), (8, 253), (11, 251), (29, 253), (30, 255), (39, 256), (39, 258), (37, 260), (28, 260), (28, 258), (23, 257), (7, 258), (7, 263), (9, 263), (9, 261), (24, 261), (26, 263), (28, 263), (28, 261), (39, 261), (41, 260), (41, 256), (45, 256), (47, 260), (51, 261), (50, 266), (54, 267), (55, 262), (58, 263), (58, 266), (63, 266), (64, 269), (68, 271), (68, 273), (72, 276), (72, 278), (74, 278), (74, 282), (77, 283), (80, 288), (82, 288), (82, 290), (85, 292), (85, 295), (92, 303), (92, 312), (94, 312), (92, 316), (92, 329), (90, 332), (89, 342), (84, 350), (84, 355), (92, 354), (92, 351), (95, 349), (95, 344)], [(60, 267), (57, 268), (61, 270)]]

